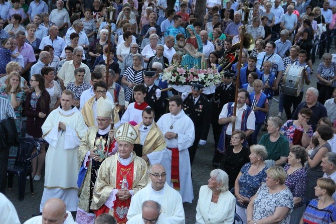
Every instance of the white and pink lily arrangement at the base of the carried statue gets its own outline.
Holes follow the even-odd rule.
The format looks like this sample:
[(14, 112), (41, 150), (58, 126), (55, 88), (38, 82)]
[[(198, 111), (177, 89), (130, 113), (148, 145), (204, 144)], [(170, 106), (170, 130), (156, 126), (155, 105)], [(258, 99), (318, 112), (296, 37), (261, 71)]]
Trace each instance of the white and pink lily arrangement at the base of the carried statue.
[(163, 70), (162, 81), (171, 85), (191, 85), (193, 81), (205, 82), (205, 87), (221, 83), (221, 73), (218, 72), (215, 64), (211, 68), (187, 70), (180, 65), (172, 64)]

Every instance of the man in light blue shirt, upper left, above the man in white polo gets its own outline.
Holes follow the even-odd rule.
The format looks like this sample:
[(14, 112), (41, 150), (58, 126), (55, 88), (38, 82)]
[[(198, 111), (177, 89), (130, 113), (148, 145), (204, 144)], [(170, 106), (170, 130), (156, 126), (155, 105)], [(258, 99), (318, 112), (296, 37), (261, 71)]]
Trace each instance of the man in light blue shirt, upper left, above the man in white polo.
[(50, 35), (47, 36), (47, 37), (44, 37), (41, 40), (41, 44), (40, 44), (39, 49), (43, 50), (43, 48), (46, 45), (51, 45), (55, 49), (54, 55), (57, 56), (57, 57), (60, 57), (63, 49), (66, 46), (65, 42), (64, 42), (64, 39), (58, 36), (59, 31), (58, 31), (58, 27), (56, 25), (52, 25), (49, 28), (49, 31), (50, 31)]

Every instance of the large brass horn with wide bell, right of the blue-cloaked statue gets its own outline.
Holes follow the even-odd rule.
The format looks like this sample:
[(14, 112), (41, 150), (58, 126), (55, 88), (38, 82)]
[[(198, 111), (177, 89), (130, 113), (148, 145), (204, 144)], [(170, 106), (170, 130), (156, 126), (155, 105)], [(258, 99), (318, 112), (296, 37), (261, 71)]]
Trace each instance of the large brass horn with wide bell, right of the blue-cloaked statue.
[[(243, 47), (247, 50), (247, 51), (252, 51), (254, 49), (255, 46), (255, 42), (253, 37), (251, 36), (251, 34), (244, 34), (244, 43), (243, 43)], [(240, 41), (235, 43), (234, 45), (232, 45), (230, 52), (226, 52), (226, 50), (224, 51), (224, 61), (223, 61), (223, 69), (228, 69), (230, 68), (232, 62), (235, 60), (236, 57), (238, 57), (236, 50), (240, 48)], [(231, 52), (235, 52), (234, 54)], [(243, 67), (243, 66), (242, 66)]]

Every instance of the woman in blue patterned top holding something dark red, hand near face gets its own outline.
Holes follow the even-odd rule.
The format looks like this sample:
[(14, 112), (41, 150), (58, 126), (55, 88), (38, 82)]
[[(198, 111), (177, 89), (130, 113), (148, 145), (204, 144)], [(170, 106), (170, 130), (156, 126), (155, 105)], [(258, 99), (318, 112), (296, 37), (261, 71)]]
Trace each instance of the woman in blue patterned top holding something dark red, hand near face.
[(312, 128), (307, 124), (312, 116), (312, 110), (309, 108), (302, 108), (298, 113), (298, 120), (288, 120), (283, 124), (280, 134), (284, 135), (289, 147), (293, 145), (300, 145), (307, 147), (312, 137)]

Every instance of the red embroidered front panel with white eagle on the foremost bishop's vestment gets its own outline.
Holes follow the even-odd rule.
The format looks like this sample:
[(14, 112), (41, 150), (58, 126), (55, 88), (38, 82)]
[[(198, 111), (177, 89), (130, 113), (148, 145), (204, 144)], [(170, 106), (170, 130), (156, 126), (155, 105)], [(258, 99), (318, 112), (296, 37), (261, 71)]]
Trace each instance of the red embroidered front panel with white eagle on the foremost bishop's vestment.
[[(134, 172), (134, 161), (132, 161), (127, 166), (122, 165), (119, 161), (117, 162), (117, 177), (115, 189), (121, 189), (122, 181), (126, 177), (127, 183), (124, 183), (124, 187), (131, 190), (133, 187), (133, 172)], [(125, 201), (117, 199), (114, 201), (113, 205), (113, 216), (117, 220), (118, 224), (125, 224), (127, 221), (127, 212), (129, 205), (131, 203), (131, 198)]]

